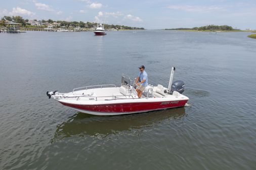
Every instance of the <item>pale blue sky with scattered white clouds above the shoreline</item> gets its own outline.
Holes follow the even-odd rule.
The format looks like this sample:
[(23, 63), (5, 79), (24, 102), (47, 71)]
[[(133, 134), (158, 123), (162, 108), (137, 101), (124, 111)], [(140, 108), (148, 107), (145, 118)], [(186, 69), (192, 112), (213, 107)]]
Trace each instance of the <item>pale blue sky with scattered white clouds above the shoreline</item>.
[(146, 29), (230, 25), (256, 29), (256, 0), (1, 0), (0, 17), (118, 24)]

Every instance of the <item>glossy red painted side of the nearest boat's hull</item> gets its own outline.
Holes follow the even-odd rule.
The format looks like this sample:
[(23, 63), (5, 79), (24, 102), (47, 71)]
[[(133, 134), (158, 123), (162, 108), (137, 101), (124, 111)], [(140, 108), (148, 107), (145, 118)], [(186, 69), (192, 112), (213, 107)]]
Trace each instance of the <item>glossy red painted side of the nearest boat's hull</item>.
[(150, 110), (182, 107), (187, 103), (187, 101), (188, 100), (164, 101), (164, 102), (116, 103), (116, 104), (99, 104), (99, 105), (70, 104), (70, 103), (64, 103), (64, 102), (60, 102), (60, 103), (65, 106), (69, 106), (69, 107), (77, 108), (81, 110), (120, 113), (120, 112), (143, 112), (143, 111), (150, 111)]

